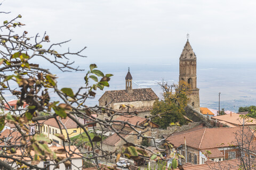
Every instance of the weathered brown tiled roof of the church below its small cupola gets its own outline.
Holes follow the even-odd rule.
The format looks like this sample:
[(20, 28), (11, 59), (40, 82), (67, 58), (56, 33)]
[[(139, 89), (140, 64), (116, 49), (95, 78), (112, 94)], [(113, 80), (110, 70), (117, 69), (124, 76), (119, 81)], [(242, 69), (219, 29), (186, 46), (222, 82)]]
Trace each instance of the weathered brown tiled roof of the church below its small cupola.
[(111, 90), (106, 91), (102, 96), (104, 95), (107, 95), (114, 103), (155, 100), (158, 98), (151, 88), (132, 89), (131, 92), (127, 90)]

